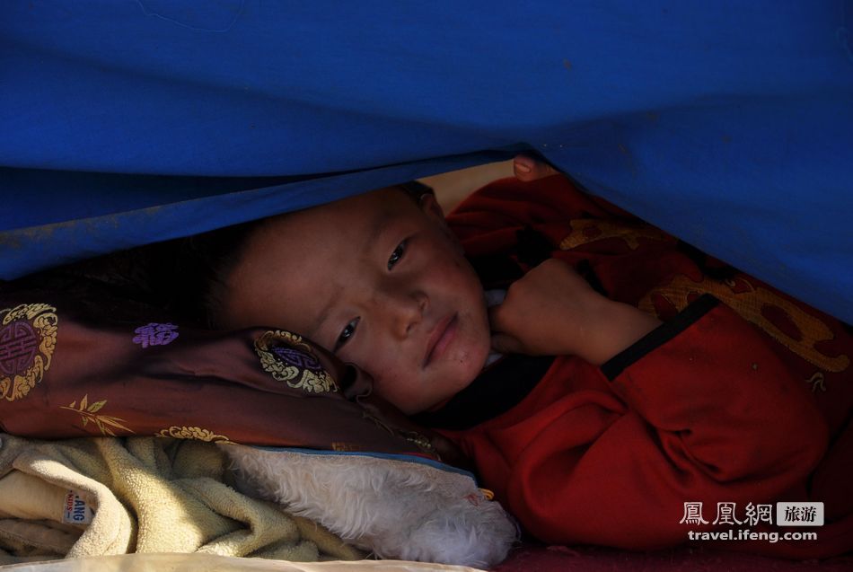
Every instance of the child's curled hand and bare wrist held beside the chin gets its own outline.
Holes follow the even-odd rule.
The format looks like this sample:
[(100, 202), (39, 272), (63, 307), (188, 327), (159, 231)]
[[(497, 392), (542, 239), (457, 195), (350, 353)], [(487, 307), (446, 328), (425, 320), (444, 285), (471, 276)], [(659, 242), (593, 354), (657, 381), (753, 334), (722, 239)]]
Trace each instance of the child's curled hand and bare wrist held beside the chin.
[(497, 351), (574, 355), (596, 365), (660, 324), (598, 294), (561, 260), (546, 260), (510, 286), (489, 319)]

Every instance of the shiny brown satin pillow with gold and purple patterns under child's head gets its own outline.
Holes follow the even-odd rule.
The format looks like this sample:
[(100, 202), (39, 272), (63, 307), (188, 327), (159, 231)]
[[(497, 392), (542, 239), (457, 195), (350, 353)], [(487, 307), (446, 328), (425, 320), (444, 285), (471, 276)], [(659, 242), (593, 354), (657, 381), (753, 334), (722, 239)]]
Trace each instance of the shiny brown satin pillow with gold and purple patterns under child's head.
[(13, 435), (169, 436), (453, 462), (441, 437), (373, 396), (352, 399), (369, 384), (291, 332), (194, 328), (84, 278), (61, 290), (0, 289), (0, 430)]

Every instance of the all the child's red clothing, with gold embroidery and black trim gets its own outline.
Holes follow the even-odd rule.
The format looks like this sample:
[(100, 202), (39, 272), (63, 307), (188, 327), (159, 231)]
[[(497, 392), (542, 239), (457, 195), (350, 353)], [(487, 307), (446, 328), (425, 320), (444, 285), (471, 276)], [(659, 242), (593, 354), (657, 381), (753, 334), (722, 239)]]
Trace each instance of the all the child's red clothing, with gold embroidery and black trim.
[[(690, 531), (817, 532), (714, 545), (794, 558), (853, 550), (849, 326), (560, 176), (497, 181), (448, 220), (472, 260), (496, 268), (509, 253), (526, 270), (558, 257), (664, 320), (601, 367), (558, 356), (538, 383), (511, 383), (532, 389), (508, 409), (444, 429), (529, 532), (629, 549)], [(822, 501), (826, 524), (777, 527), (777, 501)], [(750, 521), (759, 505), (774, 505), (772, 526), (766, 514)], [(708, 524), (690, 524), (699, 510)]]

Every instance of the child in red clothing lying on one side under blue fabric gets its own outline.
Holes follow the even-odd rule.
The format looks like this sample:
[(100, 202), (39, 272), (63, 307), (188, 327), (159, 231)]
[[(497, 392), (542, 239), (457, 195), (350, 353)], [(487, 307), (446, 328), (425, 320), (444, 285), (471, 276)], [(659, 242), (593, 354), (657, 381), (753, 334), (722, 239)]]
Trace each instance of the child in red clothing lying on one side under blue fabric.
[[(220, 268), (215, 321), (359, 365), (541, 540), (646, 549), (734, 529), (727, 547), (853, 548), (842, 324), (541, 163), (516, 174), (446, 220), (431, 194), (391, 188), (263, 221)], [(776, 501), (822, 501), (827, 524), (774, 528)], [(818, 537), (738, 542), (738, 527)]]

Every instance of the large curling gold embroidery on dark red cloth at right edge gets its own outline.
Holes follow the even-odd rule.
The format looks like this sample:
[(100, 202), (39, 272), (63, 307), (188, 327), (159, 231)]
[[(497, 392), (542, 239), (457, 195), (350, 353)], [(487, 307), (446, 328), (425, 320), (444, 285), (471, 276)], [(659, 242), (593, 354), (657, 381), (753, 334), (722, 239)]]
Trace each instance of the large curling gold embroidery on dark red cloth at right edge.
[[(660, 295), (681, 312), (689, 304), (691, 295), (706, 292), (717, 296), (726, 305), (734, 308), (734, 311), (739, 313), (744, 320), (751, 321), (761, 330), (767, 332), (770, 337), (776, 339), (810, 364), (834, 373), (843, 372), (849, 367), (849, 356), (844, 354), (826, 356), (815, 347), (818, 342), (835, 338), (829, 326), (811, 314), (804, 312), (787, 299), (765, 288), (752, 286), (743, 277), (738, 277), (737, 281), (727, 282), (703, 277), (701, 281), (697, 282), (682, 274), (674, 277), (669, 285), (655, 289), (644, 296), (638, 305), (640, 310), (654, 315), (656, 312), (652, 298), (655, 295)], [(792, 338), (777, 324), (769, 320), (763, 312), (768, 308), (784, 312), (787, 319), (799, 331), (799, 338)]]

